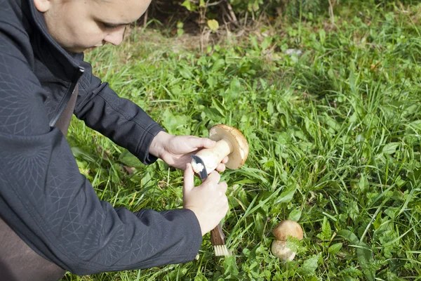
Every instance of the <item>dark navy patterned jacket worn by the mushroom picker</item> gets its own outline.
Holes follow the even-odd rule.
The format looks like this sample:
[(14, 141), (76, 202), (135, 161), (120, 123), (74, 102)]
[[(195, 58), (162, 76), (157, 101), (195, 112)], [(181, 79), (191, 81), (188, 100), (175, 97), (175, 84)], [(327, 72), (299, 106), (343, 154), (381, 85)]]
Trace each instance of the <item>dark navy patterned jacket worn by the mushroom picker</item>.
[(76, 117), (154, 162), (149, 145), (162, 128), (93, 76), (83, 54), (62, 49), (32, 0), (0, 0), (1, 218), (38, 254), (79, 275), (191, 261), (201, 245), (192, 211), (114, 209), (79, 173), (54, 126), (77, 83)]

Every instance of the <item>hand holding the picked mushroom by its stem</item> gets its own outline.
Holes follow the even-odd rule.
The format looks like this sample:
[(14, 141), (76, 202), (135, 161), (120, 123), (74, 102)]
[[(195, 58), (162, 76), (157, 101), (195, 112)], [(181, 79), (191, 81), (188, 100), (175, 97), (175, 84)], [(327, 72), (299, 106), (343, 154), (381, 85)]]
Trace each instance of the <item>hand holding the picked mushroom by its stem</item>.
[[(196, 136), (173, 136), (164, 131), (159, 132), (149, 147), (149, 153), (163, 159), (166, 164), (177, 169), (184, 170), (187, 163), (192, 161), (190, 155), (195, 154), (203, 148), (213, 148), (215, 141), (210, 138), (199, 138)], [(216, 167), (216, 171), (225, 171), (225, 163), (228, 157)]]

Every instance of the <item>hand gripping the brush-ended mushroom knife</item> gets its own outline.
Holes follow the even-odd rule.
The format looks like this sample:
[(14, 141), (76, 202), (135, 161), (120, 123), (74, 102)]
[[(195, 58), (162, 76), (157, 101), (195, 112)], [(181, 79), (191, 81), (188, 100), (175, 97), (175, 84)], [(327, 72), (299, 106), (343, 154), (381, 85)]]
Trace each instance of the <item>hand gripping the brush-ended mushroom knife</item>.
[(228, 211), (227, 183), (220, 181), (220, 174), (213, 171), (208, 178), (194, 187), (194, 171), (191, 164), (186, 165), (184, 175), (183, 203), (199, 221), (202, 236), (213, 230)]

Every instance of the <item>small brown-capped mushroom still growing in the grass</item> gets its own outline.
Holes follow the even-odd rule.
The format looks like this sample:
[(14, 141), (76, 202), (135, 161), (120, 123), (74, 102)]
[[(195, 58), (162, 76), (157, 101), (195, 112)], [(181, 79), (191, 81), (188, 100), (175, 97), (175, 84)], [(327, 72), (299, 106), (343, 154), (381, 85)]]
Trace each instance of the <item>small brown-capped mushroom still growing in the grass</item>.
[(286, 246), (288, 236), (302, 240), (303, 233), (301, 226), (295, 221), (281, 221), (272, 231), (276, 240), (272, 242), (272, 254), (283, 261), (292, 261), (295, 258), (295, 251)]

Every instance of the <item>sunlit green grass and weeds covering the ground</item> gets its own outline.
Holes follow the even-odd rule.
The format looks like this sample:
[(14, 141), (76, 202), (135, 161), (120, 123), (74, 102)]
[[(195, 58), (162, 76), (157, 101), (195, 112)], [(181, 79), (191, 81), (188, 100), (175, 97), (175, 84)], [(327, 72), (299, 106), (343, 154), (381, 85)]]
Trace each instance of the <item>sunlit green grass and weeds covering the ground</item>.
[[(234, 256), (213, 257), (206, 235), (191, 263), (64, 280), (421, 280), (420, 11), (342, 4), (335, 25), (282, 19), (204, 53), (148, 30), (88, 53), (99, 77), (169, 133), (229, 124), (250, 155), (222, 174)], [(182, 207), (182, 172), (143, 166), (77, 120), (69, 143), (101, 200)], [(271, 231), (286, 218), (305, 238), (282, 263)]]

